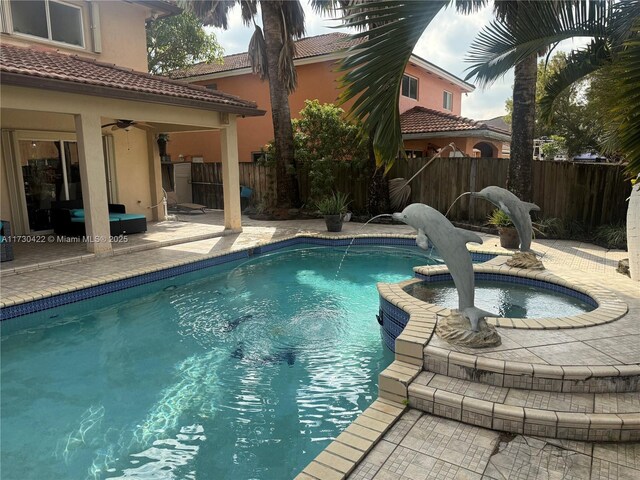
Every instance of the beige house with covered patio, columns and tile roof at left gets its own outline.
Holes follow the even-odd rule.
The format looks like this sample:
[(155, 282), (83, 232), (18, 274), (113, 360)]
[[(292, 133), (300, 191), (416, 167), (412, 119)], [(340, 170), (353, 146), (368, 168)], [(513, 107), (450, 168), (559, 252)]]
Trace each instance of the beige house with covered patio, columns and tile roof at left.
[[(218, 132), (225, 226), (238, 231), (238, 116), (256, 104), (146, 73), (145, 22), (163, 1), (0, 3), (1, 218), (12, 233), (52, 228), (52, 204), (82, 201), (93, 252), (109, 252), (108, 204), (163, 218), (156, 139)], [(103, 241), (104, 240), (104, 241)]]

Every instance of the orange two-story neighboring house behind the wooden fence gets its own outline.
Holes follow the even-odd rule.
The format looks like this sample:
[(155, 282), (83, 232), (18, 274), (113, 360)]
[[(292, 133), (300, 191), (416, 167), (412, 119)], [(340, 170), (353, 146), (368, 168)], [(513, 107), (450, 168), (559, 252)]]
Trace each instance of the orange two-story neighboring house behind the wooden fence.
[[(304, 108), (307, 99), (317, 99), (321, 103), (336, 102), (341, 76), (336, 71), (337, 61), (346, 55), (344, 49), (354, 44), (355, 41), (344, 33), (318, 35), (296, 42), (294, 63), (298, 88), (289, 97), (293, 117)], [(252, 73), (247, 53), (228, 55), (222, 64), (201, 63), (175, 72), (172, 77), (248, 98), (266, 108), (264, 117), (246, 119), (238, 124), (239, 160), (251, 162), (260, 157), (260, 149), (274, 136), (269, 85)], [(508, 132), (459, 116), (462, 95), (474, 88), (436, 65), (416, 55), (411, 56), (399, 98), (400, 112), (407, 112), (403, 117), (411, 117), (408, 123), (412, 129), (403, 129), (409, 156), (427, 156), (452, 141), (469, 156), (473, 156), (474, 148), (483, 156), (500, 156), (503, 142), (510, 140)], [(346, 110), (351, 104), (343, 108)], [(423, 111), (428, 111), (429, 115)], [(461, 128), (462, 124), (468, 126)], [(211, 133), (173, 135), (168, 153), (174, 161), (202, 157), (206, 162), (217, 162), (220, 158), (215, 147), (217, 142), (216, 135)]]

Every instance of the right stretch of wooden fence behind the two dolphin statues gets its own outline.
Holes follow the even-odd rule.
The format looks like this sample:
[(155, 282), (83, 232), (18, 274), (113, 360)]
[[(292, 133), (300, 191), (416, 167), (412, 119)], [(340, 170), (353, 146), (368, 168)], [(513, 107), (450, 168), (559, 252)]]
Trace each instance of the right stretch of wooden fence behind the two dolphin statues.
[[(389, 178), (411, 178), (426, 159), (399, 161)], [(508, 158), (440, 158), (411, 182), (411, 201), (446, 212), (464, 192), (489, 185), (505, 187)], [(541, 217), (576, 220), (589, 227), (624, 221), (631, 184), (623, 167), (555, 161), (533, 162), (533, 201)], [(484, 200), (464, 196), (449, 218), (482, 222), (495, 207)]]

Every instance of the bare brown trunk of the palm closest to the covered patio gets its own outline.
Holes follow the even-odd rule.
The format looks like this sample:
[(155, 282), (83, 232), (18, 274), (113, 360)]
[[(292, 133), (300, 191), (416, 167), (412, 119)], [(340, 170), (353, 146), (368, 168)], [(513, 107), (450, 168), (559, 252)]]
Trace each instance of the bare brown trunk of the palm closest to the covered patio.
[(261, 2), (260, 7), (267, 46), (267, 72), (276, 156), (276, 204), (283, 208), (298, 207), (300, 192), (295, 173), (289, 93), (278, 73), (278, 58), (283, 45), (283, 20), (278, 2)]

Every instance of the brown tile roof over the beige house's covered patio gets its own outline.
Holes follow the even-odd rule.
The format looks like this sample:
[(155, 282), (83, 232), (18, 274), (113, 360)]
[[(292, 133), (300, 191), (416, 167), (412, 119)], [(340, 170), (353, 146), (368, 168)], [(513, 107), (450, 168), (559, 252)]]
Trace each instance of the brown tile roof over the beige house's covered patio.
[(254, 102), (129, 68), (42, 47), (0, 44), (3, 84), (179, 104), (243, 115), (263, 115)]

